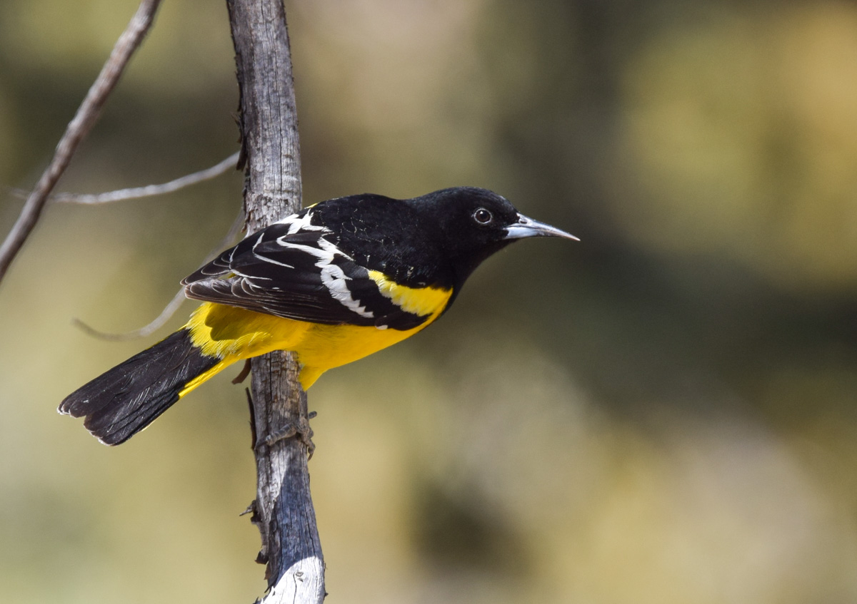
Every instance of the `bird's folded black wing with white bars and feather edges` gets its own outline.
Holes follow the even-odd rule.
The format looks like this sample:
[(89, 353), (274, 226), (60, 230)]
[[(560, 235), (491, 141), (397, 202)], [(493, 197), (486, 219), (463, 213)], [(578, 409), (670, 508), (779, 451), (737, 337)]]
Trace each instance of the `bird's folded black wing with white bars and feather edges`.
[(411, 329), (428, 317), (384, 296), (312, 210), (277, 222), (182, 281), (192, 299), (312, 323)]

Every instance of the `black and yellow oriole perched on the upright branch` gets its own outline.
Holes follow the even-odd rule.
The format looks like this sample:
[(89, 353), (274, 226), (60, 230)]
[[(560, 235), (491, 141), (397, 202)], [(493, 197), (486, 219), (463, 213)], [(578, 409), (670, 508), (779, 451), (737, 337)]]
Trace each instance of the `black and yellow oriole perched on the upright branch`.
[(328, 199), (249, 234), (183, 279), (202, 304), (175, 333), (69, 394), (99, 441), (127, 441), (237, 361), (287, 350), (301, 386), (449, 310), (486, 258), (528, 237), (578, 240), (488, 189)]

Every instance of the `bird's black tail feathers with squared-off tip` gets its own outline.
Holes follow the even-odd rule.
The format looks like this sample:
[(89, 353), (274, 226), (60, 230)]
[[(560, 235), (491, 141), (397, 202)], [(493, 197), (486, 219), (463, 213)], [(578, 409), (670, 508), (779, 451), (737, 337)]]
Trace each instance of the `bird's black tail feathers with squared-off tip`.
[(188, 329), (129, 358), (69, 394), (60, 413), (86, 417), (83, 423), (99, 441), (127, 441), (178, 400), (196, 376), (219, 363), (193, 345)]

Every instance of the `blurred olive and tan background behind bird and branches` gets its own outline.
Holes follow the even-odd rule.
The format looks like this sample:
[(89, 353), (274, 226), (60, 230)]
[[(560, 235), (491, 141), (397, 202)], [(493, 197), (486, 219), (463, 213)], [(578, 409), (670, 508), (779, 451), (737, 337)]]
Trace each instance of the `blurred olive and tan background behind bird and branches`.
[[(0, 3), (0, 183), (136, 4)], [(857, 601), (857, 3), (286, 7), (306, 203), (474, 185), (581, 239), (512, 246), (311, 390), (329, 601)], [(59, 190), (213, 165), (236, 108), (224, 3), (165, 2)], [(240, 198), (45, 211), (0, 287), (0, 601), (261, 595), (237, 368), (115, 449), (55, 411), (170, 332), (72, 319), (148, 323)]]

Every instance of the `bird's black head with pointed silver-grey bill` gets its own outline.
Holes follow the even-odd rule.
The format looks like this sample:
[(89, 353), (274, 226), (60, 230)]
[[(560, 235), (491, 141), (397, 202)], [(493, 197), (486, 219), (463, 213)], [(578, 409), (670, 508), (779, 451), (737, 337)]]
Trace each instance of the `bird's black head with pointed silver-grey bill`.
[(446, 258), (460, 286), (494, 252), (524, 237), (564, 237), (572, 234), (522, 215), (506, 198), (476, 187), (442, 189), (409, 199), (421, 212), (431, 213), (440, 228)]

